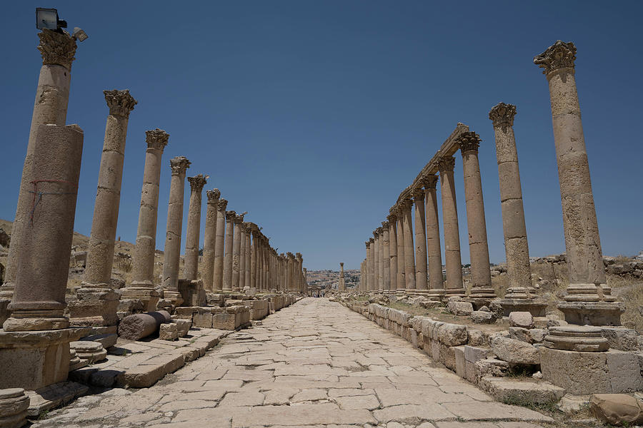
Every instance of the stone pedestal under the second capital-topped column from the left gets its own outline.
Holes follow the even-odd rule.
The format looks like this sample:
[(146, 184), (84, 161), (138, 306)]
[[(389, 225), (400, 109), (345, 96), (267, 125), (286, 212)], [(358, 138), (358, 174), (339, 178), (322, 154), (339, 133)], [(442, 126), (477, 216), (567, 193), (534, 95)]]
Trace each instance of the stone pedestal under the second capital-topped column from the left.
[(71, 325), (106, 327), (118, 324), (116, 309), (119, 307), (120, 296), (117, 292), (109, 287), (86, 286), (76, 290), (76, 295), (78, 300), (67, 304)]

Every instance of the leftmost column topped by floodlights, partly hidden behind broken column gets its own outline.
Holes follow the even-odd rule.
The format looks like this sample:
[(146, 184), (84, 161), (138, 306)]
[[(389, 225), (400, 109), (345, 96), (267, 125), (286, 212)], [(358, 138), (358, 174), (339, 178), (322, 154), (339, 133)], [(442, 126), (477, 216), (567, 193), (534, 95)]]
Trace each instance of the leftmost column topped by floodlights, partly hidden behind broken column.
[[(16, 282), (22, 230), (29, 225), (29, 208), (31, 208), (34, 199), (29, 191), (34, 187), (31, 182), (34, 180), (32, 171), (36, 132), (40, 125), (46, 123), (65, 125), (67, 103), (69, 102), (69, 84), (71, 83), (71, 62), (74, 61), (76, 54), (76, 40), (69, 34), (44, 29), (38, 34), (38, 37), (40, 38), (38, 50), (42, 56), (42, 67), (36, 87), (36, 101), (31, 116), (29, 141), (22, 167), (16, 218), (11, 226), (11, 245), (9, 245), (9, 254), (6, 258), (4, 284), (0, 286), (0, 297), (8, 299), (11, 299)], [(0, 313), (0, 320), (1, 316)]]

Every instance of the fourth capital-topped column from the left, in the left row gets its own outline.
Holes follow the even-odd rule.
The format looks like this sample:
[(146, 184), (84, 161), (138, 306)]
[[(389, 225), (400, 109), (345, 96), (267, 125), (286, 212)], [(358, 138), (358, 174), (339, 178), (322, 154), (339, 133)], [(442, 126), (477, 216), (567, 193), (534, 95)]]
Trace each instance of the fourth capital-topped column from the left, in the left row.
[(165, 248), (163, 250), (163, 297), (181, 305), (179, 293), (179, 261), (181, 258), (181, 228), (183, 227), (183, 197), (185, 190), (185, 172), (190, 161), (185, 156), (170, 159), (172, 175), (170, 195), (167, 208), (167, 228), (165, 231)]

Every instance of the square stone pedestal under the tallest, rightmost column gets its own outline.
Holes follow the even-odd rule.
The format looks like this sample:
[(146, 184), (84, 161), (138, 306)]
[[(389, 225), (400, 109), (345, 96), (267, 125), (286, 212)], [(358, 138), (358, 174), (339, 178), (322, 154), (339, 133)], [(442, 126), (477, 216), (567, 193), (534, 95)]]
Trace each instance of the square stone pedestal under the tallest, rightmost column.
[(565, 321), (574, 325), (621, 325), (623, 302), (560, 302)]

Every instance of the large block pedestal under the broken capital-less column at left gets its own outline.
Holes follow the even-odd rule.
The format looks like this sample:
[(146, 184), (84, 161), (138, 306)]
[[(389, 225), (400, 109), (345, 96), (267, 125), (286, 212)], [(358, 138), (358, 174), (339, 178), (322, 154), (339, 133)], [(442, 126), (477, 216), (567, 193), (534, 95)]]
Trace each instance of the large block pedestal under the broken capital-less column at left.
[(90, 330), (90, 327), (21, 332), (0, 330), (0, 367), (11, 368), (11, 376), (0, 377), (0, 389), (39, 389), (66, 380), (69, 342), (79, 340)]

